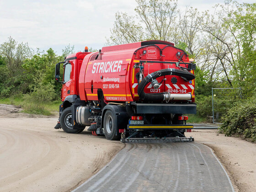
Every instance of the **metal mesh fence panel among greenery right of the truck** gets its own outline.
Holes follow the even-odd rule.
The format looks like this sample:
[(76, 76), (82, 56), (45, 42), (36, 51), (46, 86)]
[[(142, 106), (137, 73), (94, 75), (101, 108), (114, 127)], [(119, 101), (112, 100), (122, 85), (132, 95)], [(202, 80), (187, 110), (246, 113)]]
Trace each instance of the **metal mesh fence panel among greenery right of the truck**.
[(241, 99), (241, 87), (212, 88), (213, 123), (221, 123), (221, 117)]

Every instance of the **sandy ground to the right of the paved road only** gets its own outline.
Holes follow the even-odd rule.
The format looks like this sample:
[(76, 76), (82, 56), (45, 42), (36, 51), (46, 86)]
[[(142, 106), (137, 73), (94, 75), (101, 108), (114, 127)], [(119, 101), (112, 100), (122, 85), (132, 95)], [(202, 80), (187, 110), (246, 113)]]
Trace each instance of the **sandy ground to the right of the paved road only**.
[(256, 144), (225, 137), (217, 130), (193, 130), (186, 136), (213, 149), (229, 174), (235, 191), (256, 192)]

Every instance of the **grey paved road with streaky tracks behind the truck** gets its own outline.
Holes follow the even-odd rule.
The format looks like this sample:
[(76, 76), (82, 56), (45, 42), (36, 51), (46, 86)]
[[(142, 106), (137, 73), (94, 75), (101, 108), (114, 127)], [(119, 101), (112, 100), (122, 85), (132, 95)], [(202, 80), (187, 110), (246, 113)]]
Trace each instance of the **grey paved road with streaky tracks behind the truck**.
[(75, 192), (232, 192), (222, 165), (197, 143), (126, 144)]

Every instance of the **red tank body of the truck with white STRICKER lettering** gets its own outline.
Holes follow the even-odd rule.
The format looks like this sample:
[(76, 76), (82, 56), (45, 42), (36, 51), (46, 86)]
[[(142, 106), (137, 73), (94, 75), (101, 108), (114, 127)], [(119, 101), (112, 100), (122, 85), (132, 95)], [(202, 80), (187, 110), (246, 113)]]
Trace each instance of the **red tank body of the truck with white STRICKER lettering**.
[[(156, 46), (145, 45), (155, 44)], [(166, 47), (166, 45), (170, 45)], [(161, 55), (160, 49), (165, 48)], [(139, 50), (138, 50), (139, 49)], [(146, 52), (146, 53), (145, 53)], [(150, 63), (150, 61), (160, 62), (179, 62), (176, 57), (177, 52), (183, 52), (175, 48), (173, 43), (163, 41), (145, 41), (103, 47), (101, 53), (90, 53), (85, 56), (79, 75), (79, 93), (81, 100), (98, 100), (97, 90), (103, 91), (106, 101), (138, 101), (137, 92), (138, 81), (136, 74), (139, 68), (134, 69), (135, 63), (144, 62), (144, 76), (160, 69), (180, 69), (176, 64)], [(182, 56), (184, 63), (189, 63), (187, 55)], [(186, 64), (180, 63), (181, 67), (186, 68)], [(193, 70), (191, 70), (193, 73)], [(145, 93), (191, 93), (194, 101), (194, 80), (185, 81), (177, 77), (177, 83), (172, 84), (173, 75), (166, 76), (166, 80), (160, 84), (159, 89), (154, 89), (149, 83), (145, 87)], [(157, 78), (159, 82), (162, 77)]]

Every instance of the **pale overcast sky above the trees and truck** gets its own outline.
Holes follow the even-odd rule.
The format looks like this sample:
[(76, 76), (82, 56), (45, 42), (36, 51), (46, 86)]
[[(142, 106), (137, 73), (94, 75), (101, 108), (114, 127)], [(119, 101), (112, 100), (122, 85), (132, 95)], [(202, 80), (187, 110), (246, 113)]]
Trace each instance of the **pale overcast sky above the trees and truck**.
[[(178, 0), (178, 9), (197, 7), (211, 11), (224, 0)], [(254, 3), (255, 0), (238, 0)], [(110, 37), (115, 13), (135, 15), (135, 0), (0, 0), (0, 44), (14, 38), (29, 47), (61, 55), (67, 45), (100, 49)]]

